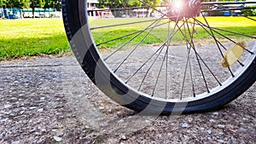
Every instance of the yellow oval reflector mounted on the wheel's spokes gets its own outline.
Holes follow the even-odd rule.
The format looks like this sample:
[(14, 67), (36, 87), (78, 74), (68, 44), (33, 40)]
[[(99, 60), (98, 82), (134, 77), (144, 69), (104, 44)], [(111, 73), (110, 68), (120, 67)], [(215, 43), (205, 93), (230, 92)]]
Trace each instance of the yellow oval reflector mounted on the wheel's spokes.
[(224, 54), (224, 58), (220, 61), (221, 66), (233, 66), (235, 62), (241, 57), (244, 49), (246, 49), (245, 41), (241, 41), (232, 45), (229, 49), (227, 49), (226, 53)]

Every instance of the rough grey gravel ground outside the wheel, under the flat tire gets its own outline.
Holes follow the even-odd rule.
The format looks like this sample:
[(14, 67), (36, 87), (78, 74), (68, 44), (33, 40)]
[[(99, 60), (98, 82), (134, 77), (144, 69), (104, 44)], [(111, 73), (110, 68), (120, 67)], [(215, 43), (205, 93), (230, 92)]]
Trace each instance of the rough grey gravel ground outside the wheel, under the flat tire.
[(138, 117), (73, 56), (0, 63), (0, 143), (256, 143), (256, 84), (218, 112)]

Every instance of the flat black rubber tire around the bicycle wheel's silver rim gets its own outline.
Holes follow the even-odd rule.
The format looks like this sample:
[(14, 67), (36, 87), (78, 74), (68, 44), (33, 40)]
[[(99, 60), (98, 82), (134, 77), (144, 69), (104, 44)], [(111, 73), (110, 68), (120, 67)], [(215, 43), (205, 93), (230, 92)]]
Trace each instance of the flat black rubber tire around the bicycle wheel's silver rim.
[[(246, 68), (240, 72), (239, 77), (227, 86), (219, 87), (218, 91), (207, 97), (173, 102), (160, 101), (143, 95), (137, 90), (130, 89), (105, 65), (90, 34), (84, 3), (86, 3), (84, 0), (62, 0), (63, 21), (68, 41), (91, 81), (104, 94), (124, 107), (146, 114), (208, 112), (235, 100), (256, 80), (256, 51), (253, 51), (250, 61), (244, 66)], [(79, 37), (79, 40), (76, 37)]]

